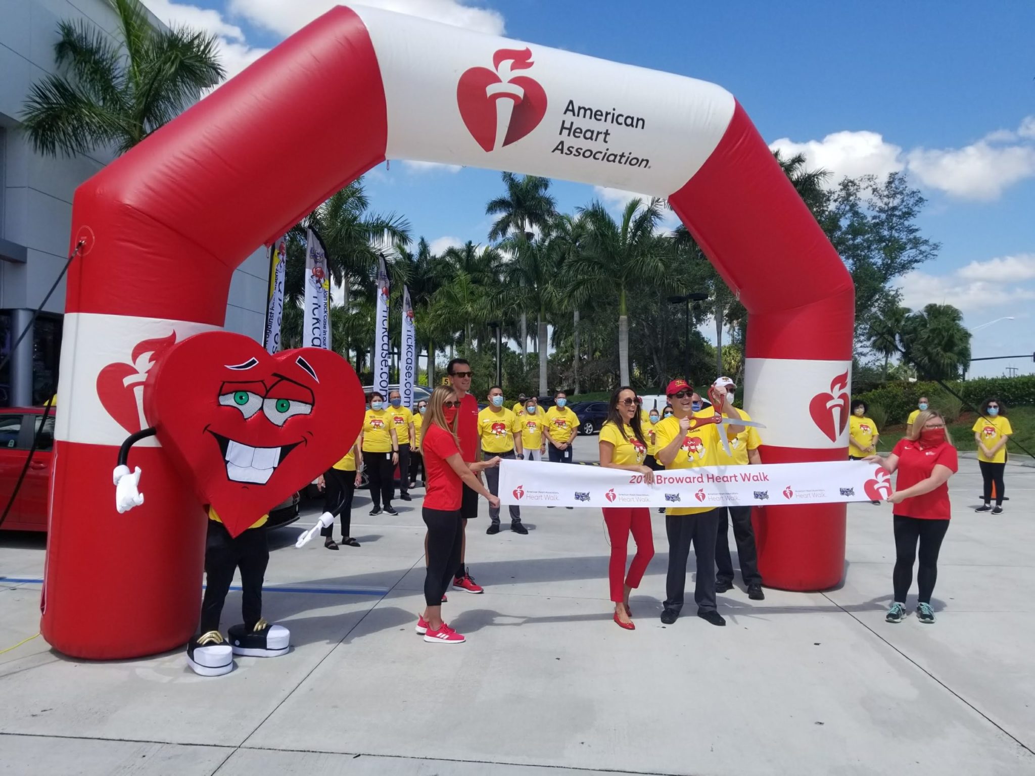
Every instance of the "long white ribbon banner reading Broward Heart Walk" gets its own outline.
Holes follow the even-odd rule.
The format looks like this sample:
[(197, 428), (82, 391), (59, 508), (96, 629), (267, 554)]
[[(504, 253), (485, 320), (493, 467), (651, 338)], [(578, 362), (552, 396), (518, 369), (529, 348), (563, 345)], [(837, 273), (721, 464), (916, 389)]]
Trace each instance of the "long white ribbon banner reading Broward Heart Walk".
[(699, 467), (644, 475), (618, 469), (533, 460), (500, 462), (500, 502), (558, 507), (738, 507), (882, 501), (891, 478), (876, 464)]

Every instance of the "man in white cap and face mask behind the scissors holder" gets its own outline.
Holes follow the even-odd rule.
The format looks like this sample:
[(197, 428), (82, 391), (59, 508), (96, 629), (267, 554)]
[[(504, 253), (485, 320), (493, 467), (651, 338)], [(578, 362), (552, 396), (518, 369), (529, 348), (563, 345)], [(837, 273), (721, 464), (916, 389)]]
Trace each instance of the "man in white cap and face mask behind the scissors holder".
[[(730, 378), (719, 378), (714, 385), (726, 388), (730, 400), (733, 400), (737, 386)], [(742, 420), (751, 417), (740, 411)], [(721, 431), (720, 431), (721, 432)], [(755, 426), (745, 426), (738, 435), (729, 437), (730, 455), (726, 454), (721, 444), (715, 451), (713, 466), (734, 467), (758, 466), (762, 462), (758, 448), (762, 439)], [(726, 593), (733, 590), (733, 558), (730, 557), (730, 523), (733, 523), (733, 538), (737, 542), (737, 557), (740, 559), (740, 575), (747, 586), (747, 597), (752, 601), (765, 600), (762, 592), (762, 574), (759, 573), (759, 554), (755, 546), (755, 528), (751, 526), (750, 507), (719, 507), (718, 528), (715, 535), (715, 592)]]

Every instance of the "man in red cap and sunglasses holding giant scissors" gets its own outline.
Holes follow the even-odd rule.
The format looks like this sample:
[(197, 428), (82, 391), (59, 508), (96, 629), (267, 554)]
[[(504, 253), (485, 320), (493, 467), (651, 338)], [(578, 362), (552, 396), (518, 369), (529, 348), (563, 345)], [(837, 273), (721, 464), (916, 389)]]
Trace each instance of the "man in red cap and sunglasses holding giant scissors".
[[(666, 393), (672, 404), (673, 416), (654, 426), (658, 461), (667, 470), (714, 466), (715, 451), (721, 446), (718, 435), (737, 435), (744, 430), (744, 426), (730, 425), (727, 430), (727, 426), (703, 422), (705, 417), (714, 415), (714, 411), (709, 408), (694, 415), (693, 386), (685, 380), (673, 380)], [(722, 414), (733, 420), (741, 419), (724, 387), (716, 385), (713, 394), (720, 402)], [(669, 507), (666, 509), (664, 528), (669, 535), (669, 574), (661, 622), (666, 625), (676, 622), (683, 608), (686, 561), (692, 542), (698, 567), (693, 589), (698, 617), (712, 625), (726, 625), (715, 604), (718, 510), (713, 507)]]

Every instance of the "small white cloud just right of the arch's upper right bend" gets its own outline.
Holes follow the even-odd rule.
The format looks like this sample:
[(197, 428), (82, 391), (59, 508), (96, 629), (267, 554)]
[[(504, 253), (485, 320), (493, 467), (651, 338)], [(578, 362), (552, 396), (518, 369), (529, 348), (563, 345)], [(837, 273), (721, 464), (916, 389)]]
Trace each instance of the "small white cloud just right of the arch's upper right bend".
[(769, 148), (778, 150), (783, 158), (803, 153), (810, 169), (823, 168), (832, 173), (831, 183), (868, 174), (883, 178), (905, 167), (901, 148), (886, 142), (878, 132), (846, 130), (804, 143), (780, 138), (770, 143)]

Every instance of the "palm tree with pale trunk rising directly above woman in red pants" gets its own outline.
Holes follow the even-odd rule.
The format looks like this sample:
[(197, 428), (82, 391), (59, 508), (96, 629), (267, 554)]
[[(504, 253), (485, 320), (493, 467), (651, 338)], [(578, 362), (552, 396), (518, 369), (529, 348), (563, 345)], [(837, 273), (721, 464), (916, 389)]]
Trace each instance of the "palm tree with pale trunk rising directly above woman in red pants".
[(585, 249), (572, 257), (569, 279), (573, 298), (618, 295), (618, 364), (622, 385), (629, 385), (629, 311), (626, 296), (630, 288), (664, 273), (668, 241), (654, 234), (661, 218), (661, 201), (646, 205), (633, 199), (615, 221), (599, 202), (580, 210), (587, 222)]

